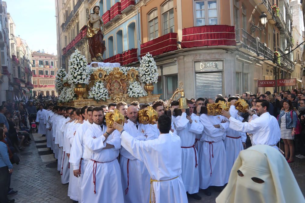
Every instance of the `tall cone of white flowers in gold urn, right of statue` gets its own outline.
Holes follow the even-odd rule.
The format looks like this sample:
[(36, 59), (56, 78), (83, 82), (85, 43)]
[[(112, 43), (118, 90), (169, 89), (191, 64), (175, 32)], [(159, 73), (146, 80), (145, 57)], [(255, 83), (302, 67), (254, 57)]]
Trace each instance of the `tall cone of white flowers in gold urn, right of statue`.
[(146, 84), (157, 83), (158, 81), (158, 71), (155, 60), (152, 58), (152, 55), (147, 53), (142, 57), (140, 61), (139, 74), (141, 82)]

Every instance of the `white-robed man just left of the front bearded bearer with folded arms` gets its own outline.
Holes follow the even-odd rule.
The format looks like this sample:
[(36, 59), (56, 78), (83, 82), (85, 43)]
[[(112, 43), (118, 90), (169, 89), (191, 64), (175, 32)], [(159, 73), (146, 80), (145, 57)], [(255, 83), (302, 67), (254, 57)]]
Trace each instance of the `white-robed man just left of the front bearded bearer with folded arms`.
[(84, 171), (89, 160), (91, 160), (91, 151), (85, 145), (84, 134), (93, 124), (92, 119), (93, 107), (88, 107), (85, 111), (85, 117), (87, 121), (81, 124), (75, 132), (74, 141), (71, 146), (71, 153), (69, 162), (73, 166), (73, 173), (75, 177), (78, 177), (78, 201), (81, 202), (81, 184), (84, 177)]

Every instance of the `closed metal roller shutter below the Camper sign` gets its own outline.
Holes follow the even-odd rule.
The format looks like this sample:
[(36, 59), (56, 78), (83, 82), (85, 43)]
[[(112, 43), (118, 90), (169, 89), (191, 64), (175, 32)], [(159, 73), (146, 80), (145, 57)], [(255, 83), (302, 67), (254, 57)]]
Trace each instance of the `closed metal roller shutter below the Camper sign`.
[(222, 72), (196, 73), (196, 98), (215, 99), (222, 94)]

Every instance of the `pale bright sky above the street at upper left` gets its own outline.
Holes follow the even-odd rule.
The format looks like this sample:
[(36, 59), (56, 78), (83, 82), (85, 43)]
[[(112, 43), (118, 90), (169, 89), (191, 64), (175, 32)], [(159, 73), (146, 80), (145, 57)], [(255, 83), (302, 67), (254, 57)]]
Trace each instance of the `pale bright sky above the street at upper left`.
[(26, 40), (32, 51), (57, 55), (54, 0), (6, 0), (7, 12), (16, 25), (15, 35)]

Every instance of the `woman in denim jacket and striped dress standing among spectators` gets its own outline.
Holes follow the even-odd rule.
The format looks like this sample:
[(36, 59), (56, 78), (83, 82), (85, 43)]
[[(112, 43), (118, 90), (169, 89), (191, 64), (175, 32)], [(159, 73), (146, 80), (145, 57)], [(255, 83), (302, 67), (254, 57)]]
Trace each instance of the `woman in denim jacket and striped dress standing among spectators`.
[[(281, 138), (284, 142), (285, 147), (285, 158), (288, 163), (293, 162), (294, 155), (294, 130), (296, 128), (297, 115), (293, 110), (291, 101), (284, 100), (284, 110), (280, 112), (278, 117), (278, 124), (280, 125)], [(289, 156), (290, 154), (290, 156)]]

